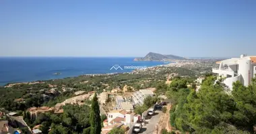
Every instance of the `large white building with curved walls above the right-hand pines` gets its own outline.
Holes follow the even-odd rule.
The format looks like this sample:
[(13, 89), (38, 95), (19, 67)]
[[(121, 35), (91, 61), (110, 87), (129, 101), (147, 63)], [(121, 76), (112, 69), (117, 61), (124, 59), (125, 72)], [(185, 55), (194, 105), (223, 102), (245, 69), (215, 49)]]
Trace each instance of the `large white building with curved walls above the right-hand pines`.
[(216, 62), (219, 68), (213, 68), (220, 78), (225, 78), (224, 84), (232, 90), (232, 83), (237, 80), (244, 86), (251, 83), (251, 78), (256, 74), (256, 56), (241, 55), (240, 58), (230, 58)]

